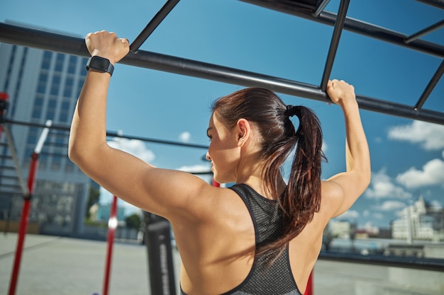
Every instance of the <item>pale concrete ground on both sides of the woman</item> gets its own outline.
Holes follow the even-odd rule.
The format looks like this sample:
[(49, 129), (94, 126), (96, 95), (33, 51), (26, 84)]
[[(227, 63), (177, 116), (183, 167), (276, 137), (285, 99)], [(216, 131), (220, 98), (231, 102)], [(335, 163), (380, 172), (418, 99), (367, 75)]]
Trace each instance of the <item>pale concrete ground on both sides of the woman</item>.
[[(16, 244), (16, 233), (1, 233), (0, 294), (8, 294)], [(106, 242), (103, 241), (28, 234), (16, 294), (103, 294), (105, 259)], [(174, 253), (174, 263), (177, 272), (177, 253)], [(109, 294), (150, 295), (147, 265), (144, 245), (114, 243)], [(370, 295), (398, 294), (398, 291), (399, 294), (412, 295), (444, 294), (439, 291), (418, 292), (417, 288), (416, 291), (409, 291), (388, 283), (389, 277), (390, 267), (319, 260), (313, 272), (313, 294)], [(397, 291), (387, 291), (384, 287), (387, 285), (397, 288)], [(385, 289), (382, 290), (382, 287)]]

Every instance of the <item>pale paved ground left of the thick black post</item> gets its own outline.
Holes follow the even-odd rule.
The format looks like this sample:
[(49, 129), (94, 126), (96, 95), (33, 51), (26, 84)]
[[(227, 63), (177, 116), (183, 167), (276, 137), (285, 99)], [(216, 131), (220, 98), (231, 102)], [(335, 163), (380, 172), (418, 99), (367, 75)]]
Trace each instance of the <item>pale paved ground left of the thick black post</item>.
[[(17, 235), (0, 237), (0, 294), (8, 294)], [(102, 294), (106, 243), (27, 235), (16, 294)], [(150, 294), (143, 245), (115, 243), (109, 294)]]

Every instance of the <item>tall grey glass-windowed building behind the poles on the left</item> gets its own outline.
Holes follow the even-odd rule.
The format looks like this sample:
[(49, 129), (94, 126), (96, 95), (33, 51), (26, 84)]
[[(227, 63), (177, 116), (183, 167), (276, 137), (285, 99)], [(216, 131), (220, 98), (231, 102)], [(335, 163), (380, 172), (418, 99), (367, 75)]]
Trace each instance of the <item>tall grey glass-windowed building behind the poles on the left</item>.
[[(68, 127), (84, 83), (87, 59), (58, 52), (0, 43), (0, 92), (9, 94), (6, 120), (13, 138), (18, 168), (28, 177), (30, 156), (48, 120)], [(19, 124), (14, 122), (23, 122)], [(18, 221), (23, 193), (18, 169), (1, 136), (0, 220)], [(29, 222), (40, 233), (82, 234), (91, 180), (67, 157), (69, 132), (50, 128), (39, 157)]]

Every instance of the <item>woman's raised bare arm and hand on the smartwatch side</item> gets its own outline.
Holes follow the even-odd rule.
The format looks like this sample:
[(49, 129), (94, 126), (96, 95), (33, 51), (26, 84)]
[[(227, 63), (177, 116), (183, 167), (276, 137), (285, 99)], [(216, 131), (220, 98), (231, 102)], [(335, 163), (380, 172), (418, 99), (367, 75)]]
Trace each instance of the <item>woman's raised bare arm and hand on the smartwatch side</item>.
[[(88, 34), (91, 55), (112, 64), (128, 53), (128, 41), (105, 31)], [(136, 207), (168, 219), (179, 214), (204, 212), (202, 190), (211, 187), (189, 173), (155, 168), (106, 143), (106, 96), (109, 73), (89, 71), (80, 93), (70, 132), (70, 159), (113, 195)], [(170, 120), (170, 119), (168, 119)], [(160, 122), (162, 124), (162, 122)]]

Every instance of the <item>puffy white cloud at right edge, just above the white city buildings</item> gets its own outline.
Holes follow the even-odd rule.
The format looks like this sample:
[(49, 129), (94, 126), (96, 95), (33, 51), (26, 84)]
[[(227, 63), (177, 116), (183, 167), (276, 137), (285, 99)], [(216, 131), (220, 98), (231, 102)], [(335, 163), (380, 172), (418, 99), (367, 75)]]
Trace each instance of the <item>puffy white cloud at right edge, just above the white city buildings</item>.
[(409, 188), (424, 185), (442, 185), (444, 183), (444, 161), (435, 158), (428, 161), (422, 170), (412, 167), (396, 176), (396, 181)]

